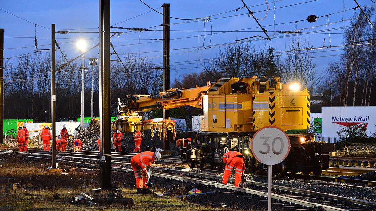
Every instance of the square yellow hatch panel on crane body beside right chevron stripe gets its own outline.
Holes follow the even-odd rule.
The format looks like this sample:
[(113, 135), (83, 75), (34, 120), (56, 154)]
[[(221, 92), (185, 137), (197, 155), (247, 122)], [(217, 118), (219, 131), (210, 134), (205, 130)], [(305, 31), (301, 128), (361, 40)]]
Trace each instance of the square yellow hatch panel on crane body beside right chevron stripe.
[(303, 108), (281, 108), (281, 125), (303, 125)]

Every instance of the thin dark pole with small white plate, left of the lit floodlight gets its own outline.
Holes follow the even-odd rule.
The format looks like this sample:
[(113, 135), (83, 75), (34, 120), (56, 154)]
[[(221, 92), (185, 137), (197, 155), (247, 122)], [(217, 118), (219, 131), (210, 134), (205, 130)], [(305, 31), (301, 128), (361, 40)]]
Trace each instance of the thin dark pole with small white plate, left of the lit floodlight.
[(52, 114), (52, 168), (56, 168), (56, 121), (55, 121), (55, 24), (51, 24), (51, 114)]

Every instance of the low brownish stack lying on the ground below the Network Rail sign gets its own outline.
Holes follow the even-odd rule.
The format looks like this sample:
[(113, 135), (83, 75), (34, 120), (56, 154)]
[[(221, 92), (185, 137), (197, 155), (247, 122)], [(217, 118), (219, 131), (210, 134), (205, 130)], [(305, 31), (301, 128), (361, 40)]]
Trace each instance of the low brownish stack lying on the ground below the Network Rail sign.
[(337, 156), (376, 157), (376, 144), (338, 143), (335, 145)]

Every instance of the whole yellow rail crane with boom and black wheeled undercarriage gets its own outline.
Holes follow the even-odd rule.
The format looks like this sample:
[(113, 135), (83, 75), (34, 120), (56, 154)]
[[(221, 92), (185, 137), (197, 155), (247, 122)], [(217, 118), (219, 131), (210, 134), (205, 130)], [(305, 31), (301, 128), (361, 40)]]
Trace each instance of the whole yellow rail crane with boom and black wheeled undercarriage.
[[(256, 131), (265, 126), (279, 127), (284, 131), (307, 130), (310, 126), (307, 88), (300, 90), (295, 84), (282, 84), (278, 77), (253, 76), (221, 78), (208, 86), (170, 89), (157, 96), (119, 98), (118, 111), (121, 114), (113, 122), (113, 128), (128, 132), (153, 129), (158, 124), (142, 122), (143, 112), (186, 105), (203, 111), (201, 132), (192, 133), (190, 140), (177, 142), (181, 160), (190, 167), (222, 169), (223, 154), (236, 150), (246, 157), (248, 170), (261, 172), (264, 165), (258, 163), (249, 149)], [(285, 172), (306, 175), (312, 172), (320, 176), (322, 170), (329, 167), (333, 144), (317, 142), (313, 134), (288, 136), (291, 151), (285, 161), (273, 166), (274, 173), (282, 176)]]

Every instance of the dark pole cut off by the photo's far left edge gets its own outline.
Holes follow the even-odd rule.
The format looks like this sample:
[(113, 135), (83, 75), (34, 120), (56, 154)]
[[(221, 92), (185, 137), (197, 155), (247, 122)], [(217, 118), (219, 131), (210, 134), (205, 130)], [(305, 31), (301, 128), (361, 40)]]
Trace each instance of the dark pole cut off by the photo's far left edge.
[(4, 143), (4, 29), (0, 29), (0, 144)]

